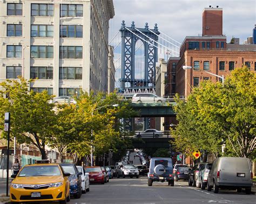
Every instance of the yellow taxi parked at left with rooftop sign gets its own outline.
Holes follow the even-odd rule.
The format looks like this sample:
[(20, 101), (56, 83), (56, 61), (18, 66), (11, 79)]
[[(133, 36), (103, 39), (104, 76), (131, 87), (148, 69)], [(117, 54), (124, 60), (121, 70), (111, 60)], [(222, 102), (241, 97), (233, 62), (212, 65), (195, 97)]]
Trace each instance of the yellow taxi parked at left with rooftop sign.
[(59, 164), (37, 161), (25, 165), (19, 173), (11, 175), (11, 203), (35, 201), (70, 201), (70, 173), (65, 173)]

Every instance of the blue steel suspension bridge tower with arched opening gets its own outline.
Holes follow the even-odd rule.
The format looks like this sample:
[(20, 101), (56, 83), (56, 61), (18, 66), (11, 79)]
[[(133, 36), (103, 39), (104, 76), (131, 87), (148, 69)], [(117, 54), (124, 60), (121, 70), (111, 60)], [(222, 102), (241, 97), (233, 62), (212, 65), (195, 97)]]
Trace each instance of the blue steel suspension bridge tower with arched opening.
[[(121, 90), (129, 90), (132, 93), (137, 93), (138, 90), (144, 93), (151, 90), (152, 93), (156, 86), (156, 62), (158, 60), (157, 41), (160, 32), (157, 24), (154, 29), (149, 29), (148, 24), (145, 24), (144, 29), (138, 29), (132, 22), (131, 27), (125, 26), (125, 21), (122, 22), (122, 27), (119, 30), (122, 37), (121, 51)], [(156, 34), (154, 34), (156, 33)], [(136, 79), (135, 76), (135, 46), (138, 40), (143, 42), (144, 46), (144, 78)]]

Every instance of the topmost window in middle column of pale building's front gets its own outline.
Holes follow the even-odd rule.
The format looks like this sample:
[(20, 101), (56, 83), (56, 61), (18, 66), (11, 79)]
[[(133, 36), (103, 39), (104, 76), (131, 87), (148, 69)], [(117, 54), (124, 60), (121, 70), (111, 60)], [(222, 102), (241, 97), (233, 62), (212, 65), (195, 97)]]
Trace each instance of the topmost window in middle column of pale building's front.
[(53, 16), (53, 4), (31, 4), (31, 16)]

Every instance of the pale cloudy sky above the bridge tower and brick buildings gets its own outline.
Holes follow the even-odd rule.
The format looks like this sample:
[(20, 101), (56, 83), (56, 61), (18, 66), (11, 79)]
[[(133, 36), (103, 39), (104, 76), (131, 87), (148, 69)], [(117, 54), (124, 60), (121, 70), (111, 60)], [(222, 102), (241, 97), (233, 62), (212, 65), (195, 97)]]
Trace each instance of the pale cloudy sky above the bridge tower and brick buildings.
[[(113, 0), (113, 3), (115, 16), (110, 20), (110, 40), (120, 29), (122, 20), (125, 20), (127, 27), (134, 21), (136, 27), (144, 27), (147, 22), (153, 29), (157, 23), (161, 32), (182, 43), (186, 36), (202, 33), (202, 12), (209, 5), (223, 8), (223, 34), (227, 36), (228, 42), (234, 36), (240, 38), (242, 44), (247, 37), (252, 36), (256, 24), (256, 0)], [(164, 37), (163, 34), (160, 36)], [(118, 34), (111, 45), (116, 46), (120, 40)], [(164, 45), (174, 49), (171, 45)], [(115, 59), (118, 59), (120, 46), (114, 50), (114, 54)], [(119, 62), (116, 62), (116, 68)]]

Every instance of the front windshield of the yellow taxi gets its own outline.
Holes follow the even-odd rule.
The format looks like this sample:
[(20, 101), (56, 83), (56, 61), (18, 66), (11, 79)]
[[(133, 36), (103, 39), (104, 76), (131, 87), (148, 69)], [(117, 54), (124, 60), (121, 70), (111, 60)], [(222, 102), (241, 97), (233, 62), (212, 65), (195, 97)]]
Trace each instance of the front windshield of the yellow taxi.
[(38, 166), (25, 166), (18, 177), (47, 177), (52, 175), (61, 175), (59, 167), (56, 165), (38, 165)]

